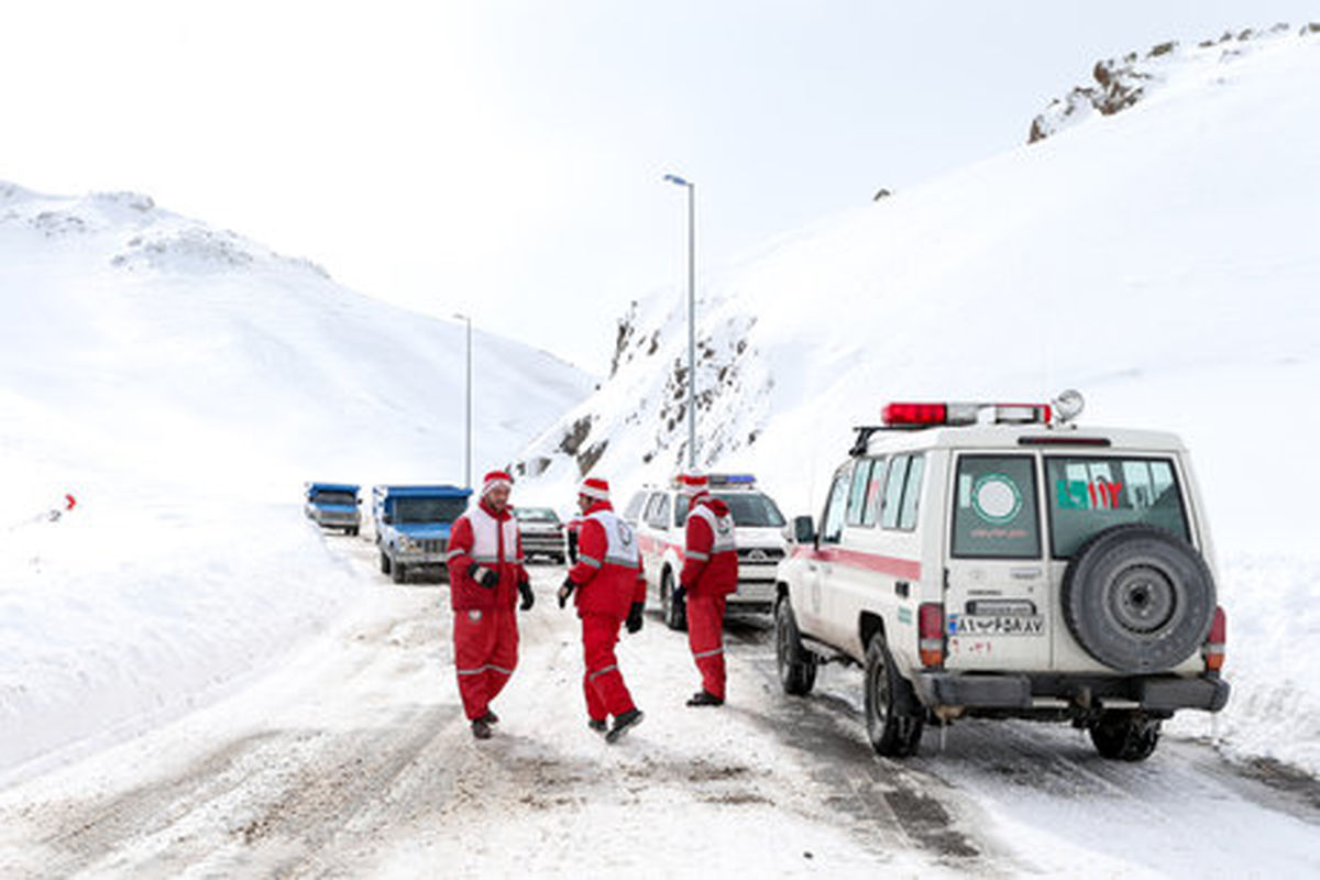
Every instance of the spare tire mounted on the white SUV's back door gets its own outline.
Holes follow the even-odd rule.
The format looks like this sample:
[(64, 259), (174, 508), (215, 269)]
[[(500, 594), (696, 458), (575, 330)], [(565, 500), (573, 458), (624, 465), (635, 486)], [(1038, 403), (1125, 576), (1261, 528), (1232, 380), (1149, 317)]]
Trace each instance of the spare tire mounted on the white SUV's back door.
[(1196, 548), (1151, 525), (1115, 525), (1086, 541), (1064, 571), (1064, 620), (1110, 669), (1172, 669), (1214, 620), (1214, 579)]

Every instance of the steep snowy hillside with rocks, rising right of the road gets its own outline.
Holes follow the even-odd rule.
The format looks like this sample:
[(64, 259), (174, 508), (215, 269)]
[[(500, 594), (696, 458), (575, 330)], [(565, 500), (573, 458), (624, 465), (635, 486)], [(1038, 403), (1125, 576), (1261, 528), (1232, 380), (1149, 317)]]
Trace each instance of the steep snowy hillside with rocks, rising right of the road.
[[(1320, 636), (1320, 34), (1172, 46), (1140, 71), (1121, 113), (702, 277), (697, 459), (756, 471), (792, 515), (888, 400), (1076, 387), (1086, 424), (1177, 431), (1225, 563), (1220, 730), (1320, 769), (1320, 668), (1291, 641)], [(685, 460), (685, 307), (667, 290), (626, 315), (615, 373), (524, 453), (537, 492)]]

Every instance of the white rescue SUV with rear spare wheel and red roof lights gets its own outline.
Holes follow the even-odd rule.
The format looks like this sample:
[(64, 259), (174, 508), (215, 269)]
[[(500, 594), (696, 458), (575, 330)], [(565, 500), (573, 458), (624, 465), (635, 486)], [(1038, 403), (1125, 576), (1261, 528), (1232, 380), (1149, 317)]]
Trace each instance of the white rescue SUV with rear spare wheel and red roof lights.
[[(865, 668), (876, 752), (964, 716), (1071, 720), (1142, 760), (1176, 710), (1216, 712), (1225, 616), (1209, 522), (1172, 434), (1047, 405), (891, 404), (858, 429), (818, 524), (779, 566), (783, 690)], [(1064, 412), (1060, 412), (1063, 408)]]

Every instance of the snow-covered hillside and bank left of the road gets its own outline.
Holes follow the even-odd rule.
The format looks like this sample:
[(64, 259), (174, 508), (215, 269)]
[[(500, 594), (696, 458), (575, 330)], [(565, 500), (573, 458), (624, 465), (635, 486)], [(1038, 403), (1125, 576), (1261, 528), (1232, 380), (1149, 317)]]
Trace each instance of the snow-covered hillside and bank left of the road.
[[(465, 346), (149, 198), (0, 183), (0, 769), (177, 712), (360, 595), (302, 482), (462, 483)], [(593, 380), (474, 351), (479, 475)]]

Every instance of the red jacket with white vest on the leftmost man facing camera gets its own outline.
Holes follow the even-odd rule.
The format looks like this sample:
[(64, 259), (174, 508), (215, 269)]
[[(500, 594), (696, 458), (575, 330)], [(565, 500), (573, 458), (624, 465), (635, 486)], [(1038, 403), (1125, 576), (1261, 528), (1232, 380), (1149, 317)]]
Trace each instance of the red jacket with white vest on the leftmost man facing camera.
[[(449, 603), (454, 611), (511, 610), (517, 599), (517, 583), (528, 579), (513, 512), (504, 508), (496, 513), (484, 499), (454, 520), (445, 559), (449, 566)], [(467, 574), (473, 562), (499, 574), (494, 590)]]

